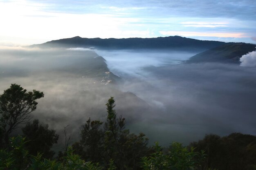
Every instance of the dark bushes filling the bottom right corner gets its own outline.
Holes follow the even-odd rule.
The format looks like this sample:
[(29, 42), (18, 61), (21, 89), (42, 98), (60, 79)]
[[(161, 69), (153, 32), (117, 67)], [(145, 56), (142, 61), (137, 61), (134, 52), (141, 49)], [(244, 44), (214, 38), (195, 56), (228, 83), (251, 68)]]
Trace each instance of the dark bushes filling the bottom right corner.
[(190, 144), (208, 155), (205, 166), (218, 170), (254, 170), (256, 166), (256, 136), (232, 133), (225, 137), (206, 135)]

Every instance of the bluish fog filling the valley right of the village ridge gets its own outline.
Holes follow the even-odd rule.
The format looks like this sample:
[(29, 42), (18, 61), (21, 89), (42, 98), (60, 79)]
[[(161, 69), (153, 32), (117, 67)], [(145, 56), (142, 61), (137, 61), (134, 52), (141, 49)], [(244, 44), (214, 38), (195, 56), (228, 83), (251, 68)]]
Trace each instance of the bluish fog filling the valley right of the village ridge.
[(256, 135), (256, 68), (234, 64), (182, 64), (182, 51), (97, 51), (119, 75), (121, 91), (146, 101), (150, 113), (129, 124), (151, 141), (188, 144), (205, 134)]

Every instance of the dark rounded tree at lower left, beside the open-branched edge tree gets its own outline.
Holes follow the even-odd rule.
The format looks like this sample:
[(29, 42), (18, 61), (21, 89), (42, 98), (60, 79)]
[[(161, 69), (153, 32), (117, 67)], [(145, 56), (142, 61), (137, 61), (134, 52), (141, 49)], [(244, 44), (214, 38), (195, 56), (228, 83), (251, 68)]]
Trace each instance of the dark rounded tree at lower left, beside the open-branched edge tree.
[(58, 134), (55, 130), (48, 129), (48, 125), (39, 124), (38, 119), (33, 123), (27, 123), (22, 132), (28, 142), (25, 147), (31, 155), (36, 156), (40, 152), (44, 158), (52, 158), (54, 151), (51, 150), (53, 144), (57, 144)]

